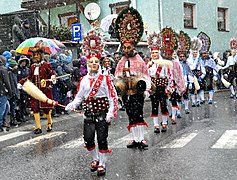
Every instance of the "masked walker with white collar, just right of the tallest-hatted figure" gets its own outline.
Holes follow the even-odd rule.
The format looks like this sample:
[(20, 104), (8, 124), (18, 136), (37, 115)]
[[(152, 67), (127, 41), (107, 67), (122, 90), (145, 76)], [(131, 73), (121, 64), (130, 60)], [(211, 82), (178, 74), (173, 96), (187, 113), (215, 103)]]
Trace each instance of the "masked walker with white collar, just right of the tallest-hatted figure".
[[(163, 29), (162, 32), (165, 32)], [(171, 32), (172, 33), (172, 32)], [(173, 76), (172, 76), (172, 62), (163, 60), (160, 55), (160, 48), (162, 47), (163, 34), (159, 35), (153, 33), (148, 37), (148, 44), (151, 51), (151, 61), (147, 64), (151, 81), (155, 86), (151, 97), (152, 113), (154, 132), (160, 133), (160, 123), (158, 122), (158, 110), (161, 108), (162, 129), (161, 132), (167, 131), (169, 111), (167, 108), (168, 92), (174, 91)], [(166, 36), (166, 33), (164, 33)], [(168, 37), (170, 38), (170, 37)], [(176, 39), (175, 39), (176, 43)], [(169, 46), (168, 46), (169, 47)], [(162, 49), (163, 57), (171, 58), (172, 54), (166, 53), (166, 49)], [(171, 50), (172, 51), (172, 50)]]

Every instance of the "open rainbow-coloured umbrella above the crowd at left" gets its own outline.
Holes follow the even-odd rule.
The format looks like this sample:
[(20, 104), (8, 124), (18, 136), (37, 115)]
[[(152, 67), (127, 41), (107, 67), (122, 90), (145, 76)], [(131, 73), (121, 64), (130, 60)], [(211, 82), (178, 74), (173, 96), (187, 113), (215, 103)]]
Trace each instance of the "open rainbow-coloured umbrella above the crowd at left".
[(53, 40), (43, 37), (34, 37), (23, 41), (16, 48), (16, 52), (20, 54), (32, 54), (31, 52), (29, 52), (29, 48), (35, 47), (36, 43), (38, 43), (39, 41), (42, 41), (42, 46), (44, 47), (45, 52), (48, 54), (56, 54), (60, 51), (60, 48)]

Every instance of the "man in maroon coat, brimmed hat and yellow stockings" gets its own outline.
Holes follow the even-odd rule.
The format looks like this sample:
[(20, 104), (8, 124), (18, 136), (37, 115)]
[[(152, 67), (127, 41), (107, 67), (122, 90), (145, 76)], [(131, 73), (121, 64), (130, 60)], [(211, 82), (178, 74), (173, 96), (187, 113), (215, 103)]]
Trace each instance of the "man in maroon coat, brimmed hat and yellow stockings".
[[(32, 58), (34, 63), (30, 66), (29, 75), (20, 80), (18, 83), (18, 88), (21, 89), (22, 85), (30, 80), (37, 86), (48, 98), (53, 99), (52, 94), (52, 82), (46, 81), (46, 85), (41, 84), (42, 79), (52, 79), (55, 81), (55, 73), (50, 65), (50, 63), (44, 61), (44, 51), (45, 48), (41, 45), (43, 44), (41, 41), (36, 43), (35, 47), (29, 48), (29, 52), (32, 52)], [(35, 134), (42, 133), (41, 123), (40, 123), (40, 110), (42, 109), (46, 118), (48, 120), (48, 124), (46, 125), (46, 131), (52, 131), (52, 108), (53, 104), (48, 104), (45, 102), (38, 101), (37, 99), (30, 97), (28, 101), (28, 107), (32, 109), (36, 127), (34, 129)]]

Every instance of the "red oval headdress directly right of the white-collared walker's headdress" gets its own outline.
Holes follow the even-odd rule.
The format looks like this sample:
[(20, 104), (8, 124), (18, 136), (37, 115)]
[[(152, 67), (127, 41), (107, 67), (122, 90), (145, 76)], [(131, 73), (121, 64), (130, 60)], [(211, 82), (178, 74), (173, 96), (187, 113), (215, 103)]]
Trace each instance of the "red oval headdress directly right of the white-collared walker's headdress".
[(170, 27), (165, 27), (161, 30), (162, 37), (161, 56), (165, 59), (172, 59), (174, 50), (177, 49), (177, 38), (174, 30)]

